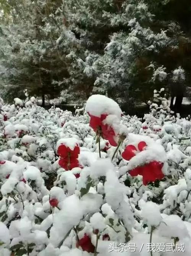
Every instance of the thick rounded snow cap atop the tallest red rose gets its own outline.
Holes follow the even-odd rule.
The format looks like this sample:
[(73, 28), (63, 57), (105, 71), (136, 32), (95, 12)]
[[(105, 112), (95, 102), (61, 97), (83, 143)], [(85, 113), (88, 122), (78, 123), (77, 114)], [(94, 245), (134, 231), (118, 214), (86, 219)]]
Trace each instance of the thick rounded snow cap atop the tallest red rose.
[(112, 114), (117, 117), (121, 117), (122, 111), (117, 104), (104, 95), (94, 94), (89, 97), (86, 102), (86, 112), (89, 112), (92, 116), (100, 116), (101, 114)]

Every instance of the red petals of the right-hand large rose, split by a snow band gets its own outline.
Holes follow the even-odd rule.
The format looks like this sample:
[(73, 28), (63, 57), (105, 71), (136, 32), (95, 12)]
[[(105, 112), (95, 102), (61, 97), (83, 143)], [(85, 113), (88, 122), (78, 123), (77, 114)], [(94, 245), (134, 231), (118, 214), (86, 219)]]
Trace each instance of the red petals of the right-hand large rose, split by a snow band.
[[(124, 152), (121, 154), (121, 156), (125, 160), (132, 159), (136, 154), (141, 152), (142, 150), (146, 149), (146, 142), (141, 141), (138, 144), (138, 150), (134, 145), (128, 145), (126, 146)], [(164, 178), (164, 174), (162, 172), (163, 163), (157, 162), (157, 161), (151, 161), (148, 164), (144, 164), (141, 166), (138, 166), (132, 170), (129, 170), (129, 174), (131, 176), (137, 176), (142, 175), (142, 183), (143, 185), (147, 185), (149, 182), (154, 182), (155, 180), (161, 180)]]

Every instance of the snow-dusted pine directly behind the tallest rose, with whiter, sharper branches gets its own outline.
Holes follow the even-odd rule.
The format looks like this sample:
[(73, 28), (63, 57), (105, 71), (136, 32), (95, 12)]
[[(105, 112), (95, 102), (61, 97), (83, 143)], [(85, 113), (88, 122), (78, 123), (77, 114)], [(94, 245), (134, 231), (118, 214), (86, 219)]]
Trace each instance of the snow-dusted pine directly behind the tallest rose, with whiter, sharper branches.
[(69, 0), (67, 7), (68, 20), (87, 49), (78, 63), (81, 73), (94, 79), (93, 92), (128, 106), (147, 102), (153, 91), (147, 66), (175, 41), (166, 31), (152, 28), (149, 5), (137, 0)]

